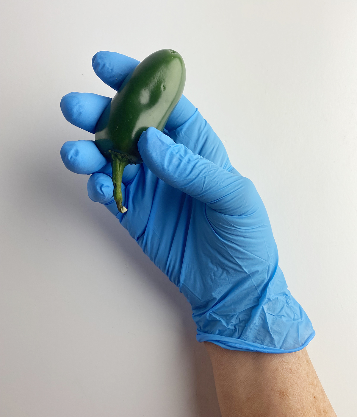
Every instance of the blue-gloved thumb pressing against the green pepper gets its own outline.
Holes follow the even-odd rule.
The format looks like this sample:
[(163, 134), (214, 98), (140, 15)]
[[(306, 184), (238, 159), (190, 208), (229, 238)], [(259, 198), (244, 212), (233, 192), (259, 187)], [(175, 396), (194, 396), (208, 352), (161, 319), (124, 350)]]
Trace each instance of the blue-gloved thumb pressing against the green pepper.
[(158, 178), (227, 215), (251, 214), (260, 197), (253, 183), (231, 173), (150, 127), (137, 144), (142, 160)]

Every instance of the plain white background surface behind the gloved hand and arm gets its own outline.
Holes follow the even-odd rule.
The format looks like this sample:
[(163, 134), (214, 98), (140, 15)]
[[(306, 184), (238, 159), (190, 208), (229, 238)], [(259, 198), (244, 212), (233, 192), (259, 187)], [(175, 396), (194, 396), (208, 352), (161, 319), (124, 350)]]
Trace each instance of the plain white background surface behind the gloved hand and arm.
[(1, 417), (219, 417), (190, 306), (65, 169), (70, 91), (113, 96), (92, 55), (173, 48), (267, 207), (308, 351), (356, 415), (357, 3), (3, 0)]

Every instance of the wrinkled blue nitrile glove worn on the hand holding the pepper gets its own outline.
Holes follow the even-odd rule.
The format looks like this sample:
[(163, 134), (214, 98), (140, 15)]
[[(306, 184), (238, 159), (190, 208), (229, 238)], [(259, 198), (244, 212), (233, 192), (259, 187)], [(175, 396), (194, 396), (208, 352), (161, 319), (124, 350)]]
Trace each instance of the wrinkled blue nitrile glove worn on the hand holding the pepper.
[[(99, 52), (92, 64), (117, 89), (138, 61)], [(109, 101), (70, 93), (61, 109), (93, 133)], [(93, 173), (89, 197), (107, 206), (186, 296), (197, 340), (270, 353), (305, 347), (315, 332), (287, 289), (264, 204), (197, 109), (182, 96), (164, 133), (148, 128), (138, 148), (144, 163), (127, 166), (122, 179), (124, 214), (112, 197), (110, 164), (94, 142), (66, 142), (61, 156), (71, 171)]]

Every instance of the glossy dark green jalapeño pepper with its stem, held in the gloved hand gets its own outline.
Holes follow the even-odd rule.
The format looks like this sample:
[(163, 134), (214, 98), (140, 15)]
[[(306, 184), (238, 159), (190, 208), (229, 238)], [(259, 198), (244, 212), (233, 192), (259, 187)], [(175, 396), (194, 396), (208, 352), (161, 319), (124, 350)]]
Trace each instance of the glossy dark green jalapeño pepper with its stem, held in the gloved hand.
[(182, 95), (185, 63), (172, 49), (145, 58), (128, 75), (108, 104), (95, 128), (95, 144), (112, 164), (113, 196), (120, 213), (122, 173), (127, 164), (142, 163), (137, 142), (148, 127), (164, 130), (167, 119)]

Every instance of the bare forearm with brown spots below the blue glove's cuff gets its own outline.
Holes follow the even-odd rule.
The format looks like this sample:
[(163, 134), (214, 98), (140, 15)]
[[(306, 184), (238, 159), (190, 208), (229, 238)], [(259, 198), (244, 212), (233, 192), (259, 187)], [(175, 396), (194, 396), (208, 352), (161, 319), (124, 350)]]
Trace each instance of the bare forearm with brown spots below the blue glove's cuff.
[(222, 417), (336, 417), (306, 349), (267, 354), (205, 346)]

